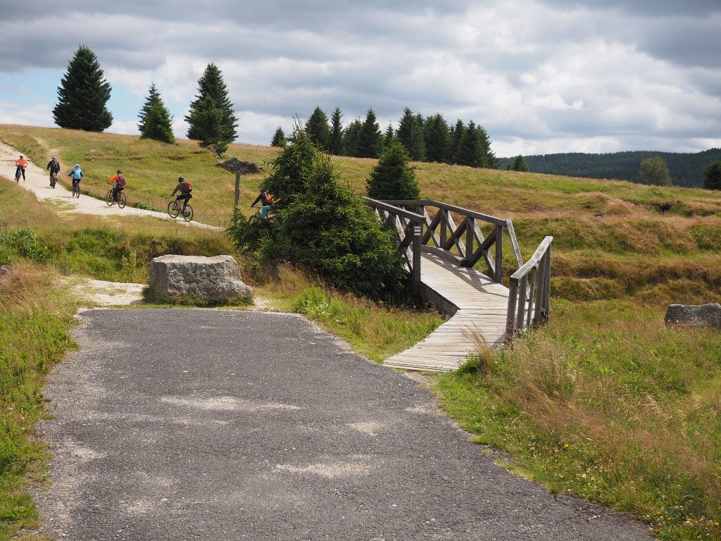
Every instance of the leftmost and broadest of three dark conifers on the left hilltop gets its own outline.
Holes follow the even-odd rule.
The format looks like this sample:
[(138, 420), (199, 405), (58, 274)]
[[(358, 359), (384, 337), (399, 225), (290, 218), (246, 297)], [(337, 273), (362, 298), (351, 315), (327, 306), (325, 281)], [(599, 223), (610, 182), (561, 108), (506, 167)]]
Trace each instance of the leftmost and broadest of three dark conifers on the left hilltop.
[(110, 127), (112, 114), (105, 105), (111, 88), (103, 77), (95, 53), (80, 45), (58, 87), (58, 105), (53, 109), (58, 126), (86, 131)]

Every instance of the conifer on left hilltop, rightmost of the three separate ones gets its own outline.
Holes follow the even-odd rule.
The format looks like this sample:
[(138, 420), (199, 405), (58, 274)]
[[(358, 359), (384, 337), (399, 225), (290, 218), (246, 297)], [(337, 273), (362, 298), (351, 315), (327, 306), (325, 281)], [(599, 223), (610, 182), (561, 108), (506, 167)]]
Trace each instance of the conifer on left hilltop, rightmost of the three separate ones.
[(214, 63), (209, 63), (198, 79), (198, 95), (185, 120), (190, 125), (187, 137), (199, 141), (200, 146), (216, 145), (218, 154), (224, 154), (236, 138), (238, 123), (233, 104), (223, 75)]

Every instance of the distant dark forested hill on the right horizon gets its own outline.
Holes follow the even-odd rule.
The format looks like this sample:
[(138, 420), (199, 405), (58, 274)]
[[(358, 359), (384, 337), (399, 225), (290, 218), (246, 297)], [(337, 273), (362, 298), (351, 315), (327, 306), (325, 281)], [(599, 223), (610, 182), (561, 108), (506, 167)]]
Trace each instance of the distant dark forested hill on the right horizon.
[[(668, 164), (671, 180), (676, 186), (700, 188), (704, 183), (704, 167), (721, 160), (721, 149), (704, 150), (696, 154), (655, 151), (613, 152), (611, 154), (544, 154), (524, 156), (528, 170), (569, 177), (612, 178), (641, 182), (639, 170), (641, 160), (660, 156)], [(511, 158), (500, 158), (498, 167), (505, 169)]]

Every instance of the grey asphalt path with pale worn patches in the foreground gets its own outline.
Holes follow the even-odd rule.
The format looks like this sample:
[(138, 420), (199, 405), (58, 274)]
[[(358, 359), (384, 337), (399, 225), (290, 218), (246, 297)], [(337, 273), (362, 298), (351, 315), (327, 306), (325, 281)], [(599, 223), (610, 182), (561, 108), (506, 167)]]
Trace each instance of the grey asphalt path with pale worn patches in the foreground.
[(40, 423), (54, 539), (650, 540), (497, 467), (417, 382), (301, 317), (81, 318)]

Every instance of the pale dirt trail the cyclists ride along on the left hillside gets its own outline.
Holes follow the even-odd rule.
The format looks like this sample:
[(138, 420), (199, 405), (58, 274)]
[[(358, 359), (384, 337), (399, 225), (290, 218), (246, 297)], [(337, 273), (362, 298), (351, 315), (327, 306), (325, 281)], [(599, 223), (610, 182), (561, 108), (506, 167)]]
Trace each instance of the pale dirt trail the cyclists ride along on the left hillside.
[[(0, 175), (4, 175), (11, 180), (15, 178), (15, 162), (19, 155), (20, 152), (12, 148), (12, 146), (0, 142)], [(49, 160), (50, 156), (48, 156), (48, 161)], [(60, 203), (61, 208), (57, 208), (58, 212), (96, 214), (98, 216), (152, 216), (162, 220), (173, 220), (163, 212), (147, 211), (142, 208), (133, 208), (130, 206), (126, 206), (125, 208), (118, 208), (118, 206), (109, 207), (105, 201), (100, 201), (89, 195), (80, 194), (80, 198), (72, 198), (70, 190), (60, 185), (60, 183), (56, 184), (54, 189), (50, 188), (50, 174), (44, 169), (46, 164), (46, 162), (42, 164), (30, 162), (27, 170), (25, 170), (26, 180), (23, 181), (21, 177), (18, 185), (21, 188), (25, 188), (25, 190), (35, 193), (35, 197), (40, 201)], [(61, 162), (61, 165), (63, 170), (60, 174), (67, 175), (73, 164)], [(183, 225), (220, 229), (216, 226), (200, 224), (197, 221), (174, 221)]]

